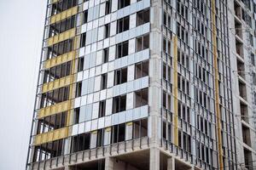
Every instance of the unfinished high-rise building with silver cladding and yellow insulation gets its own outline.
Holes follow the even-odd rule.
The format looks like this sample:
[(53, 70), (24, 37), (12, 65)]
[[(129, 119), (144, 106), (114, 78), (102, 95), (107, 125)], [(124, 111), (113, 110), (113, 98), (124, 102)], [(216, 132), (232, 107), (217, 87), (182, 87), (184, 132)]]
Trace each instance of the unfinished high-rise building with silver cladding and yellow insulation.
[(48, 0), (26, 169), (254, 169), (255, 3)]

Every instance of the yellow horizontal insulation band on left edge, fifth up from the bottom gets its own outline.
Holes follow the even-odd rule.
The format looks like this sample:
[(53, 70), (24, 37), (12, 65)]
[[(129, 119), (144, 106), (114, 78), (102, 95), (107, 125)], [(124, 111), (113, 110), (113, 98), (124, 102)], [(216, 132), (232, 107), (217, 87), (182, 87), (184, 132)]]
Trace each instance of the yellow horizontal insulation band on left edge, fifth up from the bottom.
[(70, 29), (68, 31), (64, 31), (61, 34), (55, 35), (54, 37), (49, 37), (49, 39), (47, 40), (47, 45), (51, 46), (55, 43), (65, 41), (69, 38), (75, 37), (75, 35), (76, 35), (75, 28)]

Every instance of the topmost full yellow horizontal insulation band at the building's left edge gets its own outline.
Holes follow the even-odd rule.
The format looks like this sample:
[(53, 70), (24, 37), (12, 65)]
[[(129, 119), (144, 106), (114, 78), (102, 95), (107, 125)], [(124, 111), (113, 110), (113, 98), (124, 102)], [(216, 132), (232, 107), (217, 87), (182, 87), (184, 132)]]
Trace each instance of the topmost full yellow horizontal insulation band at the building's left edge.
[(64, 20), (70, 16), (73, 16), (74, 14), (78, 14), (78, 6), (75, 6), (73, 8), (68, 8), (67, 10), (65, 10), (59, 14), (55, 14), (55, 15), (51, 16), (50, 24), (54, 24), (55, 22)]

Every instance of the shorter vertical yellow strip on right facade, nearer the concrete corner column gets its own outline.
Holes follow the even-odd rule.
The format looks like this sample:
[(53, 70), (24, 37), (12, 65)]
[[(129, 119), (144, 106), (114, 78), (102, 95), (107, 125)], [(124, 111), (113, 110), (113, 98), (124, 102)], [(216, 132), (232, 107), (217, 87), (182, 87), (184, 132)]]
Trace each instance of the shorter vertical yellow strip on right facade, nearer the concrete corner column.
[(174, 97), (174, 114), (173, 130), (174, 144), (178, 145), (178, 119), (177, 119), (177, 36), (173, 37), (173, 86), (172, 92)]

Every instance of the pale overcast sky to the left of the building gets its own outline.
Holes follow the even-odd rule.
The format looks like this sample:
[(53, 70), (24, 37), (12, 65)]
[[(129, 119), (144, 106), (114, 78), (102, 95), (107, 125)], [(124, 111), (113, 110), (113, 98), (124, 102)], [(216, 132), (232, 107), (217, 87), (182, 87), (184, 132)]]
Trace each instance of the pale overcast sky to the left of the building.
[(46, 3), (0, 0), (0, 169), (25, 169)]

